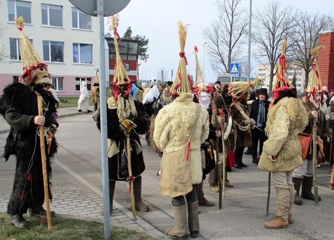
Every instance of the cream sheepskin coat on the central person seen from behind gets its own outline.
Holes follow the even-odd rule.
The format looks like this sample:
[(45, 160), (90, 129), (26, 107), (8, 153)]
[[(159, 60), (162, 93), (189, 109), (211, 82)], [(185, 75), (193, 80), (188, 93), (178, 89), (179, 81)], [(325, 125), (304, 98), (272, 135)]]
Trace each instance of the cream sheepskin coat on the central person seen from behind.
[[(196, 117), (196, 103), (192, 99), (191, 93), (181, 94), (171, 104), (161, 109), (157, 118), (155, 118), (153, 138), (162, 152), (171, 153), (186, 147)], [(208, 138), (208, 135), (208, 111), (201, 105), (201, 112), (193, 133), (188, 158), (191, 184), (202, 182), (200, 146)], [(170, 179), (174, 178), (173, 172), (167, 174), (170, 175)]]

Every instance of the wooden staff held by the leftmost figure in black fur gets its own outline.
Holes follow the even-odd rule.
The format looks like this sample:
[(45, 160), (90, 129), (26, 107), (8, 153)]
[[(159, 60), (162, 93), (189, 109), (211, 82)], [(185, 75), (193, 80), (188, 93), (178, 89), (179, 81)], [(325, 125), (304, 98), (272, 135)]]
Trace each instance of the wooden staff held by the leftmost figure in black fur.
[[(38, 115), (43, 116), (43, 105), (42, 105), (41, 96), (37, 96), (37, 106), (38, 106)], [(45, 197), (45, 205), (47, 208), (46, 212), (47, 212), (48, 230), (50, 231), (52, 229), (52, 226), (51, 226), (51, 214), (50, 214), (50, 203), (49, 203), (47, 157), (46, 157), (45, 145), (44, 145), (44, 126), (39, 125), (38, 128), (39, 128), (40, 153), (41, 153), (41, 158), (42, 158), (44, 197)]]

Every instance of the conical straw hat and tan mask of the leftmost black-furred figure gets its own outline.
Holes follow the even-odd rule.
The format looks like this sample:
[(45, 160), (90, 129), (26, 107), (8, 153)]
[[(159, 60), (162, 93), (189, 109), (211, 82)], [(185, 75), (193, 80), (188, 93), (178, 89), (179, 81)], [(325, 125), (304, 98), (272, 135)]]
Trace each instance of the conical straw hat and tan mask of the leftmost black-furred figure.
[(20, 54), (23, 72), (19, 82), (29, 86), (39, 83), (51, 84), (48, 65), (43, 63), (28, 37), (23, 32), (25, 24), (23, 17), (14, 18), (14, 21), (21, 35)]

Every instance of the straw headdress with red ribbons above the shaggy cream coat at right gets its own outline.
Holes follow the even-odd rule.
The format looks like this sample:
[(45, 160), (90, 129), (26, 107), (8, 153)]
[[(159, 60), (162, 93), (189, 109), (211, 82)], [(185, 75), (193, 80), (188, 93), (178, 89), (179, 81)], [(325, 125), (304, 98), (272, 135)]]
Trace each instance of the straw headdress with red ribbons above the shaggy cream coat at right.
[(280, 91), (286, 91), (293, 89), (292, 84), (290, 83), (289, 79), (286, 77), (286, 57), (285, 57), (285, 47), (286, 47), (286, 40), (282, 41), (282, 50), (281, 56), (279, 57), (279, 65), (276, 70), (275, 81), (273, 84), (273, 101), (279, 97)]

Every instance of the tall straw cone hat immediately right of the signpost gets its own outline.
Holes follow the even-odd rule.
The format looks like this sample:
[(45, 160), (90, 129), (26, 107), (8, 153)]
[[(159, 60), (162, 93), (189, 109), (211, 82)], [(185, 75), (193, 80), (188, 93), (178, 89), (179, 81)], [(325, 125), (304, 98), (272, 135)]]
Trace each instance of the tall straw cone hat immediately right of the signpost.
[(112, 26), (109, 27), (109, 30), (113, 31), (114, 33), (114, 45), (115, 45), (115, 51), (116, 51), (116, 64), (115, 64), (113, 82), (115, 82), (117, 85), (122, 85), (122, 84), (125, 84), (124, 79), (127, 79), (128, 81), (130, 81), (130, 78), (126, 73), (126, 70), (123, 65), (122, 58), (119, 52), (119, 48), (118, 48), (118, 41), (121, 41), (121, 38), (119, 34), (117, 33), (117, 27), (119, 25), (119, 17), (116, 14), (116, 15), (111, 16), (111, 18), (112, 18)]

